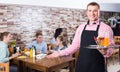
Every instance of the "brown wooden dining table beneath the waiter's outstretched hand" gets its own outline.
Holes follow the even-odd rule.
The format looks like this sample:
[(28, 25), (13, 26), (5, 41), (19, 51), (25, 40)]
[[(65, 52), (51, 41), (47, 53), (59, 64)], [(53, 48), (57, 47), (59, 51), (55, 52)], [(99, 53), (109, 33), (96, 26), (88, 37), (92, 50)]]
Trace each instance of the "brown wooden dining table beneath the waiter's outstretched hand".
[(69, 72), (74, 72), (75, 67), (75, 58), (72, 58), (71, 56), (58, 57), (53, 59), (44, 58), (39, 60), (28, 57), (24, 59), (16, 58), (14, 60), (18, 61), (18, 72), (25, 72), (26, 67), (42, 72), (53, 72), (67, 66), (69, 66)]

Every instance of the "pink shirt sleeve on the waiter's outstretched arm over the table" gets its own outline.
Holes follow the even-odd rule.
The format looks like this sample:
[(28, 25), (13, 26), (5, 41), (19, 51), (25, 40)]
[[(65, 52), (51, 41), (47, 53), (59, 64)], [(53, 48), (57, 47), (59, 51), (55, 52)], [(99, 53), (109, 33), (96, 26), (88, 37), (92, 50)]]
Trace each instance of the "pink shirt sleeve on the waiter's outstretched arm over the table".
[(72, 44), (68, 48), (61, 50), (59, 52), (60, 56), (71, 55), (80, 48), (81, 33), (83, 31), (84, 26), (85, 25), (80, 25), (78, 27), (78, 29), (76, 30)]

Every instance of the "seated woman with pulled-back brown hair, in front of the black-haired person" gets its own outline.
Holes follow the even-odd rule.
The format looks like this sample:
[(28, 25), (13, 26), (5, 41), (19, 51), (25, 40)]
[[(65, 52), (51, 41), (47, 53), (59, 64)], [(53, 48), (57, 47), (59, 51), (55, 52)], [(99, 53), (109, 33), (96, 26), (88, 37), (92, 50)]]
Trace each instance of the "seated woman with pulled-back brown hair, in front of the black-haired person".
[(56, 41), (57, 41), (57, 46), (53, 50), (60, 51), (60, 50), (63, 50), (63, 49), (65, 49), (67, 47), (66, 40), (64, 39), (63, 36), (59, 35), (56, 38)]

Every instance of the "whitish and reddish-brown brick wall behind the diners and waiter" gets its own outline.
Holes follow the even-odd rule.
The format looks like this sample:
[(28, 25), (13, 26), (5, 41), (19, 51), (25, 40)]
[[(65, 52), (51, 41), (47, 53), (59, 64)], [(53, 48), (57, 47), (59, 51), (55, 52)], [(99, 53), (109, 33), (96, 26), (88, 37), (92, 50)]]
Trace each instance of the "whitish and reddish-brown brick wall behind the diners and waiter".
[[(101, 12), (101, 18), (108, 18), (111, 14)], [(86, 21), (87, 16), (82, 9), (0, 5), (0, 32), (17, 34), (24, 44), (29, 44), (35, 38), (37, 30), (42, 30), (44, 40), (49, 43), (58, 27), (67, 28), (70, 38), (75, 33), (75, 27)]]

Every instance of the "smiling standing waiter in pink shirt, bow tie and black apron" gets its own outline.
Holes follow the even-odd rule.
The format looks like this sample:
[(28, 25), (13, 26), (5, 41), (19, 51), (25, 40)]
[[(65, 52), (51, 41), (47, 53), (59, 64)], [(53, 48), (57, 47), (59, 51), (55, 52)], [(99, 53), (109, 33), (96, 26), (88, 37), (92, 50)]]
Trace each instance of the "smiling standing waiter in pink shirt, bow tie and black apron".
[(87, 5), (88, 22), (81, 24), (73, 39), (72, 44), (60, 52), (53, 52), (48, 58), (71, 55), (80, 50), (76, 63), (75, 72), (105, 72), (105, 59), (113, 53), (112, 48), (103, 49), (87, 49), (88, 45), (96, 45), (94, 37), (105, 36), (108, 33), (109, 44), (113, 44), (113, 31), (111, 27), (99, 20), (100, 6), (96, 2)]

